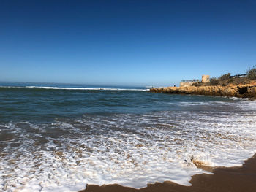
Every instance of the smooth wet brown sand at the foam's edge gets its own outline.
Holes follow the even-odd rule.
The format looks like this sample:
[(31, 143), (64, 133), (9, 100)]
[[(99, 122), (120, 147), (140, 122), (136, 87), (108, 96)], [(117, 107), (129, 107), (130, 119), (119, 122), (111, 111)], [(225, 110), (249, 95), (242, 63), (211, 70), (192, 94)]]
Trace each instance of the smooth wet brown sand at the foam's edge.
[(216, 168), (214, 174), (192, 176), (192, 186), (187, 187), (166, 181), (148, 184), (146, 188), (134, 189), (121, 185), (87, 185), (80, 192), (255, 192), (256, 191), (256, 154), (244, 162), (243, 166)]

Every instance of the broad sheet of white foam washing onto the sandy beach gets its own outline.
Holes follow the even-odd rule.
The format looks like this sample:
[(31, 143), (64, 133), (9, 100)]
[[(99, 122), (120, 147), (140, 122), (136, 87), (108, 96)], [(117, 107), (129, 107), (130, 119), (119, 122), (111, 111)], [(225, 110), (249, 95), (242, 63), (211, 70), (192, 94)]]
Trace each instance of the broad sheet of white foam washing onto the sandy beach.
[(142, 188), (165, 180), (191, 185), (192, 175), (204, 172), (195, 161), (241, 166), (256, 152), (256, 102), (204, 104), (222, 110), (1, 125), (15, 139), (0, 153), (0, 191), (79, 191), (113, 183)]

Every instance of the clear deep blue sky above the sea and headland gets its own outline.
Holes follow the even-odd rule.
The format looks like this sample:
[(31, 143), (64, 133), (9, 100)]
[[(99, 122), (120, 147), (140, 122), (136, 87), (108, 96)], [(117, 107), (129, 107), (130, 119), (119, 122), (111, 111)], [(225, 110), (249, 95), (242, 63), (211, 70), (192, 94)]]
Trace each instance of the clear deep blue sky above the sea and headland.
[(177, 85), (255, 61), (255, 0), (0, 0), (1, 81)]

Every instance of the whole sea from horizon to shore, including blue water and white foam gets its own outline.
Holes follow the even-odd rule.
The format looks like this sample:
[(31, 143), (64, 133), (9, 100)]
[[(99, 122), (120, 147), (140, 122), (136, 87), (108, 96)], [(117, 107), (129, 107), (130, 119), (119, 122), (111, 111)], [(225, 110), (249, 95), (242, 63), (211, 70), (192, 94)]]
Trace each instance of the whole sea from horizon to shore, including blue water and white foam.
[[(256, 102), (147, 88), (2, 82), (0, 191), (191, 185), (256, 152)], [(211, 173), (208, 173), (211, 174)]]

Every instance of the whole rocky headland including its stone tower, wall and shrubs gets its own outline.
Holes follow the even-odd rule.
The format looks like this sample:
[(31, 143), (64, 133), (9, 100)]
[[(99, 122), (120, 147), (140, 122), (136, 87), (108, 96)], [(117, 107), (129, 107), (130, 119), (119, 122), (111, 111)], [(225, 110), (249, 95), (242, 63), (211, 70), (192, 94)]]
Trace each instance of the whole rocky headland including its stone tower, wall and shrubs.
[(231, 76), (227, 73), (218, 78), (203, 75), (202, 80), (182, 80), (180, 87), (151, 88), (150, 91), (256, 99), (256, 68), (249, 69), (246, 74)]

